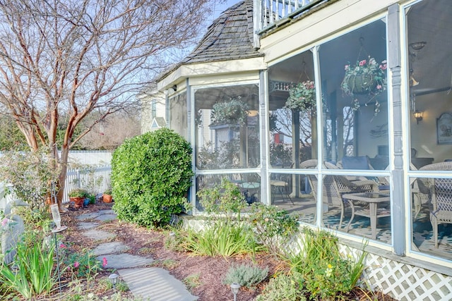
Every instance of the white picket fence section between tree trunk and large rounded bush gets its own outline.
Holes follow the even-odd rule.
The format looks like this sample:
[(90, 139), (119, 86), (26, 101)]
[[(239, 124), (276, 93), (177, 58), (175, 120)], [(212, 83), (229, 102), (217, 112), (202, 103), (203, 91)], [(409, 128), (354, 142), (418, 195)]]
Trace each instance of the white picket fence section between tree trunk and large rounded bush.
[(64, 185), (63, 203), (69, 202), (68, 193), (76, 188), (86, 189), (92, 195), (104, 192), (110, 186), (111, 173), (110, 165), (69, 169)]

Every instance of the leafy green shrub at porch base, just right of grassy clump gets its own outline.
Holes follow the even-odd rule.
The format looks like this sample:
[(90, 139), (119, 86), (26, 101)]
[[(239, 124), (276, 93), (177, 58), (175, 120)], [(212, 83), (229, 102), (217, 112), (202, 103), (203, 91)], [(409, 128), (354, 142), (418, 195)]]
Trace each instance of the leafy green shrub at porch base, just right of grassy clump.
[(285, 250), (284, 243), (290, 241), (299, 231), (298, 215), (289, 214), (273, 205), (252, 204), (249, 221), (257, 241), (274, 254)]

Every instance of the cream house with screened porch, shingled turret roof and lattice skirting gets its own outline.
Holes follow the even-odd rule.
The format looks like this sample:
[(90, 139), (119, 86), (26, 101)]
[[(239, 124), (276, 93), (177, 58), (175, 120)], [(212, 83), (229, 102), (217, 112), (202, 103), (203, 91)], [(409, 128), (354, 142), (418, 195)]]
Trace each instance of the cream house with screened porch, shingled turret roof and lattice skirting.
[(369, 240), (384, 293), (451, 300), (451, 16), (448, 0), (227, 9), (157, 82), (194, 147), (194, 214), (195, 192), (230, 178), (344, 251)]

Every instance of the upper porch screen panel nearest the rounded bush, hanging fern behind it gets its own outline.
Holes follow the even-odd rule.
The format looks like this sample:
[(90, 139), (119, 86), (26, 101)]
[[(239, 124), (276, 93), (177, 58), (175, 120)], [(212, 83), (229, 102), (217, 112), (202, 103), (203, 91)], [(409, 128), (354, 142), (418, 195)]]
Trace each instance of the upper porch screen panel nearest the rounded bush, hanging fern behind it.
[(196, 167), (256, 168), (259, 164), (258, 85), (195, 92)]

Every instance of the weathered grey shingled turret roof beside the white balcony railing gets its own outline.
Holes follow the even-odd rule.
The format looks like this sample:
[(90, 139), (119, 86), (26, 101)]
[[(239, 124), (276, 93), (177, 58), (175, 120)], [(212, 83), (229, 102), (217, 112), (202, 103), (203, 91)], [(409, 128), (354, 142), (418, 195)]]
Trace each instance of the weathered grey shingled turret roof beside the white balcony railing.
[(253, 47), (253, 30), (253, 1), (240, 1), (213, 21), (201, 42), (182, 64), (263, 56)]

